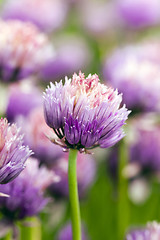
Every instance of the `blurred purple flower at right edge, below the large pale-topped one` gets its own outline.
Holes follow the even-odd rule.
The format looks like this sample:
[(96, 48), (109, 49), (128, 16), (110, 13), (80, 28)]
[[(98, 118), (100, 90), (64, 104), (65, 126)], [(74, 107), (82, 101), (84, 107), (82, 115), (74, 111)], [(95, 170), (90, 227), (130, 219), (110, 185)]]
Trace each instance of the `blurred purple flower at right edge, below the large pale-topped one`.
[[(126, 177), (148, 176), (160, 172), (160, 124), (156, 114), (143, 114), (129, 122), (127, 132), (129, 165), (125, 168)], [(118, 169), (118, 149), (109, 156), (110, 173), (115, 178)]]

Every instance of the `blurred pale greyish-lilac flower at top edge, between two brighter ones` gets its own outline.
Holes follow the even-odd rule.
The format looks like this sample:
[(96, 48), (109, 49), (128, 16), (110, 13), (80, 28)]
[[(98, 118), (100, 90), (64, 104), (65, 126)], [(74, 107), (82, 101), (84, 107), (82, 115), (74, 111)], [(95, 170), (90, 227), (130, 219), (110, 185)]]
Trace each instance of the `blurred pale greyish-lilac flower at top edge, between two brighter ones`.
[(79, 13), (84, 28), (97, 37), (110, 35), (119, 26), (116, 9), (111, 1), (80, 1)]

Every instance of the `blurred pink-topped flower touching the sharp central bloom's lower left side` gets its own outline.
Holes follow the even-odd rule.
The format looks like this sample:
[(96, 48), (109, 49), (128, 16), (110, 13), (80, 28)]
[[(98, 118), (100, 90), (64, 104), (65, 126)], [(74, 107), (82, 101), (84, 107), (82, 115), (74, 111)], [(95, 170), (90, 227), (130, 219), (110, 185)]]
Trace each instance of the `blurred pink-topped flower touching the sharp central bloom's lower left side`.
[(17, 121), (24, 133), (24, 141), (33, 150), (34, 156), (41, 164), (52, 167), (55, 161), (62, 156), (63, 151), (47, 138), (48, 135), (55, 136), (55, 133), (46, 124), (43, 109), (35, 108), (27, 117), (19, 117)]

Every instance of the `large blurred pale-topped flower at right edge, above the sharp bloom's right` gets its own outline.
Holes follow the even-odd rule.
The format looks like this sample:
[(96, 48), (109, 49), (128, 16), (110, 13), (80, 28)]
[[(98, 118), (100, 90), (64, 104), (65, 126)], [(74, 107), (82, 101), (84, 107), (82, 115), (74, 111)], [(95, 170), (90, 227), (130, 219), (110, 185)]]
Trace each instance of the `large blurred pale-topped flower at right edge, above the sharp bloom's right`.
[(129, 108), (160, 111), (160, 45), (146, 42), (116, 50), (104, 65), (104, 77), (118, 88)]

